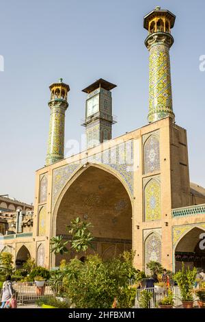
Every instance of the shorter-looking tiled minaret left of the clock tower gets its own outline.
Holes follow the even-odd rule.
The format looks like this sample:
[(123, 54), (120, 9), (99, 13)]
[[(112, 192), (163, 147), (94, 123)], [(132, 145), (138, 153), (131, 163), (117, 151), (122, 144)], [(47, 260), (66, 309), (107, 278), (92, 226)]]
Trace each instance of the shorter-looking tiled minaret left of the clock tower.
[(49, 142), (46, 155), (46, 166), (64, 159), (65, 112), (68, 108), (67, 94), (69, 85), (60, 78), (58, 83), (49, 86), (51, 90), (51, 109), (49, 124)]

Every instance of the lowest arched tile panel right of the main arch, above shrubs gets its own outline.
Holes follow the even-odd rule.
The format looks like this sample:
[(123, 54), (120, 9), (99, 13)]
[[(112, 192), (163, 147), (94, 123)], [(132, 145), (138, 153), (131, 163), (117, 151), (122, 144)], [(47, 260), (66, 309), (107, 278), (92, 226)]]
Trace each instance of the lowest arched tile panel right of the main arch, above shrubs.
[(158, 234), (152, 233), (146, 238), (145, 245), (145, 269), (146, 273), (150, 273), (147, 264), (151, 260), (161, 262), (161, 238)]

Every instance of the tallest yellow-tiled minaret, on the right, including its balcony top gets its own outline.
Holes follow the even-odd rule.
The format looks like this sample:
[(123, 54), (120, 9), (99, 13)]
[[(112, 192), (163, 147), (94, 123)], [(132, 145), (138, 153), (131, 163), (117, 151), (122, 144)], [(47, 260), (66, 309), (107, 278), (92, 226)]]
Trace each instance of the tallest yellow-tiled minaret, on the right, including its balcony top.
[(150, 51), (150, 123), (166, 116), (172, 117), (174, 121), (169, 48), (174, 42), (171, 28), (174, 27), (175, 18), (172, 12), (161, 10), (160, 7), (143, 18), (143, 27), (149, 32), (145, 45)]

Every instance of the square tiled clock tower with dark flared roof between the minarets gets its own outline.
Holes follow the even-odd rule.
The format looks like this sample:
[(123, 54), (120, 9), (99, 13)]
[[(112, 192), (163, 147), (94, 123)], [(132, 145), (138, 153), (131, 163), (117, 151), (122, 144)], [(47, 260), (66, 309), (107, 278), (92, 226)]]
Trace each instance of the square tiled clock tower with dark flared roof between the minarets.
[(85, 126), (87, 149), (99, 145), (112, 136), (112, 98), (111, 90), (115, 88), (105, 79), (98, 79), (96, 82), (83, 89), (87, 93), (85, 103)]

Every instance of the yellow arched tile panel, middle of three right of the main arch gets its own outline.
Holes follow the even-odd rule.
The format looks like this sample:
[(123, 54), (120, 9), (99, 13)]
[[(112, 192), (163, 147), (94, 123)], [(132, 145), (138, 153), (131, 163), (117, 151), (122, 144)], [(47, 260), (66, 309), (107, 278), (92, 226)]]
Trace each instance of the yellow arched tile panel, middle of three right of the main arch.
[(161, 188), (156, 179), (151, 179), (144, 188), (145, 221), (161, 219)]

